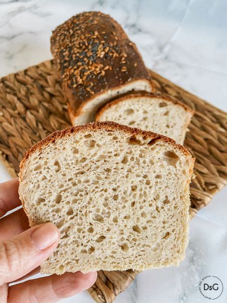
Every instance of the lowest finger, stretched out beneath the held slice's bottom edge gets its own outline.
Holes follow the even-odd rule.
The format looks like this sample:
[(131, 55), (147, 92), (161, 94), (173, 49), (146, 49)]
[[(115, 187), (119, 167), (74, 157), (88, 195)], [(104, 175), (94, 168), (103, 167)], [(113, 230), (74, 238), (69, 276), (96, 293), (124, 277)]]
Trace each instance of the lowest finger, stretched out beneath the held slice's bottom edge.
[(9, 287), (8, 303), (34, 302), (51, 303), (75, 295), (90, 286), (97, 273), (65, 273), (45, 278), (29, 280)]

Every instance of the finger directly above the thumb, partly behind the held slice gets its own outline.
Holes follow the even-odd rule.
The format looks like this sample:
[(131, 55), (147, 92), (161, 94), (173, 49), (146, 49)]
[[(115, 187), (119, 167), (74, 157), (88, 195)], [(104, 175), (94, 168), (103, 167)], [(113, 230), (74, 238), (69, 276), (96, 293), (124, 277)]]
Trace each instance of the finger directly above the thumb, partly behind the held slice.
[(12, 239), (28, 228), (28, 217), (20, 209), (0, 220), (0, 241)]

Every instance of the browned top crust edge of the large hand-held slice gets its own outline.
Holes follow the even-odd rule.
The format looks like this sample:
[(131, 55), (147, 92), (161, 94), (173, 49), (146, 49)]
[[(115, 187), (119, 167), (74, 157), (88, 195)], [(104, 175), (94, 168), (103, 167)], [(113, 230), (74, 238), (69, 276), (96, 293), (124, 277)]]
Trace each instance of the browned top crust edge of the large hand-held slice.
[[(105, 129), (106, 131), (120, 130), (125, 133), (128, 133), (129, 136), (131, 136), (131, 137), (133, 137), (133, 136), (136, 137), (138, 135), (138, 136), (149, 138), (150, 141), (148, 142), (148, 145), (151, 141), (153, 143), (156, 140), (161, 140), (166, 143), (171, 143), (172, 145), (177, 147), (179, 150), (181, 150), (186, 156), (191, 157), (191, 154), (189, 153), (188, 149), (183, 145), (177, 144), (174, 139), (165, 137), (165, 136), (157, 134), (157, 133), (153, 133), (151, 131), (145, 131), (145, 130), (141, 130), (138, 128), (132, 128), (132, 127), (129, 127), (126, 125), (121, 125), (116, 122), (104, 121), (104, 122), (93, 122), (93, 123), (83, 124), (83, 125), (79, 125), (79, 126), (71, 126), (64, 130), (57, 130), (57, 131), (53, 132), (52, 134), (50, 134), (46, 138), (42, 139), (41, 141), (37, 142), (35, 145), (33, 145), (30, 149), (28, 149), (26, 151), (24, 158), (20, 163), (20, 170), (23, 169), (25, 162), (31, 156), (31, 154), (34, 153), (34, 151), (39, 150), (41, 153), (43, 146), (45, 146), (49, 143), (55, 143), (55, 141), (57, 139), (60, 139), (60, 138), (66, 137), (66, 136), (70, 136), (77, 132), (98, 131), (98, 130), (102, 130), (102, 129)], [(194, 160), (192, 158), (192, 169), (193, 169), (193, 164), (194, 164)]]

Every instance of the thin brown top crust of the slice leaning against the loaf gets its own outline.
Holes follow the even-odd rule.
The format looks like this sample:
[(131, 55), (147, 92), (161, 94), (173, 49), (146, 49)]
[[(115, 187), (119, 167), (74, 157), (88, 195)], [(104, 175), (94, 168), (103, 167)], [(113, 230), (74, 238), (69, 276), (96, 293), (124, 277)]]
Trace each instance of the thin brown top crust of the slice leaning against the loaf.
[(108, 100), (108, 102), (106, 104), (104, 104), (102, 107), (100, 107), (97, 110), (96, 115), (95, 115), (95, 120), (98, 121), (98, 117), (106, 109), (110, 108), (111, 106), (124, 102), (124, 101), (130, 101), (130, 99), (132, 99), (132, 98), (140, 98), (143, 96), (146, 96), (148, 98), (162, 99), (163, 101), (171, 102), (175, 105), (181, 106), (186, 112), (189, 112), (191, 114), (191, 117), (194, 115), (194, 111), (191, 108), (189, 108), (187, 105), (181, 103), (177, 99), (172, 99), (168, 96), (163, 96), (161, 94), (151, 93), (151, 92), (147, 92), (147, 91), (133, 91), (133, 92), (127, 92), (125, 94), (122, 94), (121, 96), (117, 96), (117, 97), (114, 97), (114, 98), (111, 98), (110, 100)]

